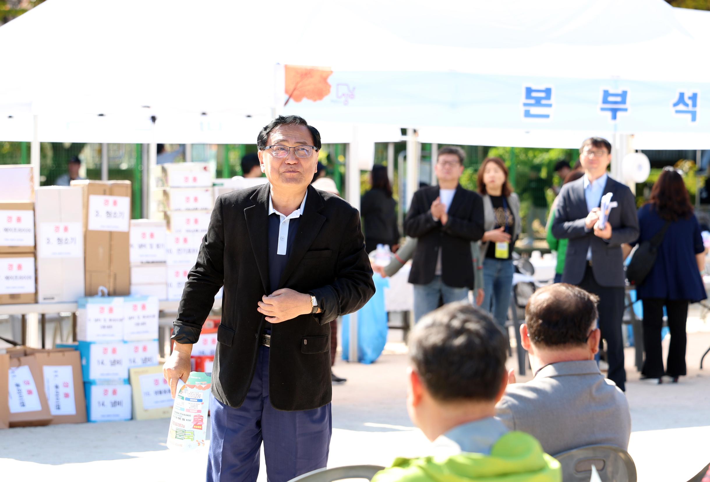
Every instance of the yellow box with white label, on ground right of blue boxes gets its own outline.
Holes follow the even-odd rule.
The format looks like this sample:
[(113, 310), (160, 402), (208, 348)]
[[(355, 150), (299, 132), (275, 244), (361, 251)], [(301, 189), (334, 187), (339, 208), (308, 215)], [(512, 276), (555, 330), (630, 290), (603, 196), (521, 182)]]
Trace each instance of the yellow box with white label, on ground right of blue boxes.
[(170, 418), (175, 400), (163, 378), (163, 366), (131, 368), (130, 372), (133, 420)]

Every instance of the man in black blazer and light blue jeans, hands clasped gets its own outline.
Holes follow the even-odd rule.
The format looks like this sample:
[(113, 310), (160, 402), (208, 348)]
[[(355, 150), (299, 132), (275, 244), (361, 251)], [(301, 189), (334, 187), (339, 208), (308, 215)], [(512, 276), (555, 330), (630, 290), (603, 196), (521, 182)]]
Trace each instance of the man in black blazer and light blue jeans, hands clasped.
[(459, 185), (464, 150), (439, 150), (435, 172), (439, 185), (414, 193), (404, 230), (417, 238), (409, 282), (414, 285), (414, 319), (444, 303), (467, 300), (474, 289), (471, 241), (484, 235), (484, 202)]

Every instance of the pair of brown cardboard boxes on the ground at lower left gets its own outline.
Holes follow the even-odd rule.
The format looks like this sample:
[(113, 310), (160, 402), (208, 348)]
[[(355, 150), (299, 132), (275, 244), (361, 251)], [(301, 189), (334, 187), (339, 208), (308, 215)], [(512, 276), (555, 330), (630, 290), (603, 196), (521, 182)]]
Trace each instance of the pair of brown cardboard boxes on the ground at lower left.
[(87, 421), (77, 351), (7, 351), (0, 355), (0, 428)]

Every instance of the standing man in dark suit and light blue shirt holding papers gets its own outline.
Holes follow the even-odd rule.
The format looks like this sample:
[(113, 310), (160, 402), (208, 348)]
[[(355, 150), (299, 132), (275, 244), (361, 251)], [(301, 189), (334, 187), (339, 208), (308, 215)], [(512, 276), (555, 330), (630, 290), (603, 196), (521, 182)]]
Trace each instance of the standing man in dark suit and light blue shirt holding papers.
[[(579, 153), (584, 176), (562, 186), (552, 234), (569, 239), (562, 283), (599, 296), (599, 328), (608, 348), (607, 377), (626, 390), (621, 337), (626, 275), (621, 243), (638, 238), (636, 199), (626, 185), (606, 174), (611, 162), (611, 144), (606, 139), (586, 139)], [(609, 212), (604, 229), (599, 229), (599, 204), (608, 192), (617, 206)]]

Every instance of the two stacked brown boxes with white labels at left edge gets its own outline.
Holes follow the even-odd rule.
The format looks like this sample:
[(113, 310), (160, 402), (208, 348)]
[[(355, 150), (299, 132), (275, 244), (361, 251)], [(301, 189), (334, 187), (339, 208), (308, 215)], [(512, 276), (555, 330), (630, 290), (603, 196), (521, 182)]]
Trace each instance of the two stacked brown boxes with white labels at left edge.
[(35, 302), (34, 209), (33, 201), (0, 201), (1, 305)]

